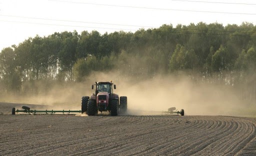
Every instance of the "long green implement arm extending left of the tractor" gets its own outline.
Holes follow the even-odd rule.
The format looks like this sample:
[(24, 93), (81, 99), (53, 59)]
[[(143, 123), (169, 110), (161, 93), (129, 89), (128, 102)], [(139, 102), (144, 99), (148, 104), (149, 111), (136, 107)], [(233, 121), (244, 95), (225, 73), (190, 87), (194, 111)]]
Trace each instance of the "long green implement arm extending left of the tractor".
[(15, 107), (12, 108), (11, 114), (15, 115), (15, 113), (17, 112), (22, 112), (21, 114), (72, 114), (72, 113), (80, 113), (81, 110), (30, 110), (30, 107), (28, 106), (22, 106), (21, 107), (23, 110), (15, 110)]

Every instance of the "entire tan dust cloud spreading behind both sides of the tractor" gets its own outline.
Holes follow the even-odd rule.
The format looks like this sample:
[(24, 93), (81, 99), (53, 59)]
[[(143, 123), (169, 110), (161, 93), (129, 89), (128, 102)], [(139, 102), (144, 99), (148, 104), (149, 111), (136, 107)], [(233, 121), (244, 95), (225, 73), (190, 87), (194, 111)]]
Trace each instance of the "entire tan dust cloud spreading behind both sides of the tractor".
[(83, 82), (55, 84), (46, 93), (17, 96), (12, 100), (43, 104), (48, 109), (80, 110), (81, 96), (94, 92), (91, 84), (110, 80), (116, 84), (114, 93), (127, 96), (131, 115), (161, 114), (169, 107), (184, 109), (185, 115), (241, 116), (248, 110), (248, 104), (239, 99), (231, 86), (195, 83), (186, 75), (161, 75), (137, 81), (117, 72), (93, 72)]

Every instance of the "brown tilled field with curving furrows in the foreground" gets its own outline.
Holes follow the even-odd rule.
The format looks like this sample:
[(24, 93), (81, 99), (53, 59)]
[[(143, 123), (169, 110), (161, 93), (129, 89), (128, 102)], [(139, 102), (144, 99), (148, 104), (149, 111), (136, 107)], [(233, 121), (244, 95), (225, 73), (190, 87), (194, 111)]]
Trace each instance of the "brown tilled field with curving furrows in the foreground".
[(256, 118), (10, 115), (0, 103), (0, 155), (256, 155)]

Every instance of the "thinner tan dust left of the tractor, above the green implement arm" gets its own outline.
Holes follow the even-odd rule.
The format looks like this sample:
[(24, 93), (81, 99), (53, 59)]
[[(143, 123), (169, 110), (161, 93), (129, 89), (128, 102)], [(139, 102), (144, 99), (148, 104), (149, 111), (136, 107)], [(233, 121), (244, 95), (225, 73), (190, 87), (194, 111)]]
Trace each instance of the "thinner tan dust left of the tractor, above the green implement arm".
[[(38, 85), (38, 84), (37, 84)], [(41, 88), (43, 86), (39, 85)], [(30, 109), (80, 110), (81, 97), (90, 95), (90, 83), (62, 83), (49, 86), (46, 92), (36, 94), (4, 95), (0, 98), (4, 102), (34, 104)], [(38, 106), (36, 106), (38, 105)]]

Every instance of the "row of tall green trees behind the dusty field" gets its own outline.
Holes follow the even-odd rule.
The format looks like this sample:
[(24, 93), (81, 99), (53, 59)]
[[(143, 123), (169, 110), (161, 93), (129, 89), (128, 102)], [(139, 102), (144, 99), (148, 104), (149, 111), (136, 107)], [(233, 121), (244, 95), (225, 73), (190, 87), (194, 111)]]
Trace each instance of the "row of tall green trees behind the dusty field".
[(82, 81), (91, 71), (137, 79), (183, 71), (198, 82), (250, 86), (255, 98), (255, 46), (256, 26), (247, 22), (36, 35), (1, 50), (0, 92), (36, 93), (38, 81)]

